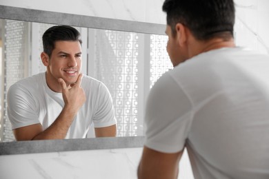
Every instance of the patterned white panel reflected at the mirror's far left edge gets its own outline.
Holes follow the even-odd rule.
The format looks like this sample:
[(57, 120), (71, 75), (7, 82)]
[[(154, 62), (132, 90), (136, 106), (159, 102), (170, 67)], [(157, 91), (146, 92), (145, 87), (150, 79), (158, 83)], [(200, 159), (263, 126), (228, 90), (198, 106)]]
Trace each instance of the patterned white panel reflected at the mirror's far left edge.
[(28, 23), (23, 21), (4, 21), (3, 43), (3, 116), (1, 124), (2, 141), (12, 141), (14, 136), (7, 114), (7, 90), (16, 81), (24, 78), (28, 70)]

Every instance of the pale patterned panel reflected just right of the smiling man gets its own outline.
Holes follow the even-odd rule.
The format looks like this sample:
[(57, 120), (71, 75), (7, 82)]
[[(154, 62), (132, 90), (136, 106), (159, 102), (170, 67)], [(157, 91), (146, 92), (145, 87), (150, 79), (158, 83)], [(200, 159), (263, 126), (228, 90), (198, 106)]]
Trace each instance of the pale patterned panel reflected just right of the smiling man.
[(97, 30), (94, 77), (108, 87), (114, 102), (118, 136), (137, 136), (138, 36)]

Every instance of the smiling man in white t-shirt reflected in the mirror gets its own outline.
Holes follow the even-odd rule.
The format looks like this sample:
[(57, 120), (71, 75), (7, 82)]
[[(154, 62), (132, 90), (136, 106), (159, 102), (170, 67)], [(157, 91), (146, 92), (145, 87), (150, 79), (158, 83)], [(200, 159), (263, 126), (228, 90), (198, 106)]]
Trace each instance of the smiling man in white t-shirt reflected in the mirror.
[(17, 140), (116, 136), (112, 98), (103, 83), (81, 74), (81, 36), (67, 25), (43, 34), (46, 72), (8, 90), (8, 118)]

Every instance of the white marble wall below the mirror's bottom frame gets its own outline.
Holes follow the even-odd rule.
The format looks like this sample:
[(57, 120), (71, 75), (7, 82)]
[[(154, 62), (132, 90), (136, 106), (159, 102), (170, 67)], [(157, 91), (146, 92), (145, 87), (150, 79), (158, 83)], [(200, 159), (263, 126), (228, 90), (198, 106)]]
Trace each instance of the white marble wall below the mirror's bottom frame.
[[(0, 178), (135, 179), (141, 154), (139, 147), (0, 156)], [(188, 160), (179, 168), (179, 178), (193, 179)]]

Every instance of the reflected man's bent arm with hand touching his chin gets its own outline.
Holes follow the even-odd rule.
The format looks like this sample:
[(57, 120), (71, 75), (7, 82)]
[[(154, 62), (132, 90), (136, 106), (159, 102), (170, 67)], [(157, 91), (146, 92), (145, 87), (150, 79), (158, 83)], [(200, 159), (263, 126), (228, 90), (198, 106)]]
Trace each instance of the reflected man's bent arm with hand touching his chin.
[(19, 127), (13, 130), (16, 140), (43, 140), (43, 139), (63, 139), (66, 138), (69, 127), (74, 120), (74, 116), (80, 107), (85, 103), (86, 96), (81, 88), (82, 74), (77, 78), (77, 82), (72, 87), (67, 87), (63, 79), (59, 79), (62, 87), (63, 101), (65, 106), (54, 123), (43, 131), (42, 125), (35, 124), (26, 127)]

